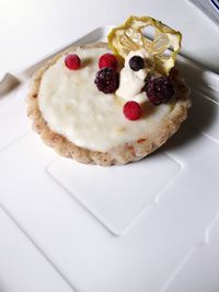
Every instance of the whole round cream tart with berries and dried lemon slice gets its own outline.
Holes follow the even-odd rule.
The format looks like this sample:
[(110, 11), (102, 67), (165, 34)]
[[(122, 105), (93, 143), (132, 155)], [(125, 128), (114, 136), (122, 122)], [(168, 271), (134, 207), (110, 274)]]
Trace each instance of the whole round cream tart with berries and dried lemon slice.
[[(152, 26), (154, 38), (142, 28)], [(189, 90), (174, 68), (181, 34), (130, 16), (108, 43), (71, 47), (34, 75), (27, 115), (43, 140), (82, 163), (126, 164), (161, 147), (186, 119)], [(170, 50), (171, 49), (171, 50)]]

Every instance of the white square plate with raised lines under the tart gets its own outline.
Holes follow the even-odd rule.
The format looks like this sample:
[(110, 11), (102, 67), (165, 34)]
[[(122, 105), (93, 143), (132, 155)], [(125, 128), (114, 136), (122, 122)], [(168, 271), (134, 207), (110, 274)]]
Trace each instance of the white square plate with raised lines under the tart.
[(26, 84), (41, 63), (0, 85), (0, 203), (37, 253), (72, 291), (219, 290), (219, 77), (180, 56), (188, 120), (146, 160), (100, 167), (58, 156), (31, 130)]

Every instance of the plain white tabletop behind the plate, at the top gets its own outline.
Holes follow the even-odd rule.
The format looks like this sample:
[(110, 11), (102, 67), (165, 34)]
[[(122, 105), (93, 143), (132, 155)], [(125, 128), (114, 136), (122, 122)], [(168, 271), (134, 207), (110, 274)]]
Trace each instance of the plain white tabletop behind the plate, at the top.
[(151, 15), (181, 31), (182, 51), (219, 72), (219, 28), (186, 0), (0, 0), (0, 71), (28, 66), (130, 14)]

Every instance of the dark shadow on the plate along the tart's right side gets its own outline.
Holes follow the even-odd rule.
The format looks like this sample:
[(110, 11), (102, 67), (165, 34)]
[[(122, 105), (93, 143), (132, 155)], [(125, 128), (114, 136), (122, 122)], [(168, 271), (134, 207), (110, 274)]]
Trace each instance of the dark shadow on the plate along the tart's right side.
[(201, 132), (208, 132), (218, 112), (218, 104), (214, 102), (217, 100), (215, 97), (216, 92), (205, 81), (204, 71), (200, 71), (199, 68), (191, 68), (189, 62), (180, 62), (177, 68), (191, 87), (193, 104), (187, 120), (160, 151), (184, 148), (195, 142)]

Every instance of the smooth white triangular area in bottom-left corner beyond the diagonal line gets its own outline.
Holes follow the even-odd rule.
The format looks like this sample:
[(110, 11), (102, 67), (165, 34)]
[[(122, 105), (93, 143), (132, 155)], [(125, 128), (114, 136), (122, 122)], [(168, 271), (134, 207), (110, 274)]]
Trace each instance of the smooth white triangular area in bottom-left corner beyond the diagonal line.
[(18, 229), (0, 205), (0, 291), (71, 292), (64, 276), (53, 267), (41, 248)]

